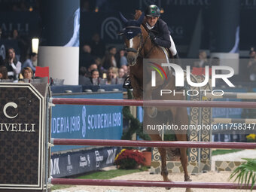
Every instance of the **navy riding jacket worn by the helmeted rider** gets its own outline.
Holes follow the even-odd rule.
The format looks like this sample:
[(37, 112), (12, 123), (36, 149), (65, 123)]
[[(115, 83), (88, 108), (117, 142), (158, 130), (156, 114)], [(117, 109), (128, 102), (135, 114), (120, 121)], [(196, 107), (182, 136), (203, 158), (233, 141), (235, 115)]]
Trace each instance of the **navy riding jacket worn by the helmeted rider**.
[(171, 47), (172, 43), (170, 40), (170, 32), (168, 29), (167, 24), (159, 19), (157, 20), (157, 23), (154, 25), (154, 27), (151, 29), (151, 32), (156, 35), (155, 43), (159, 46), (169, 48)]

